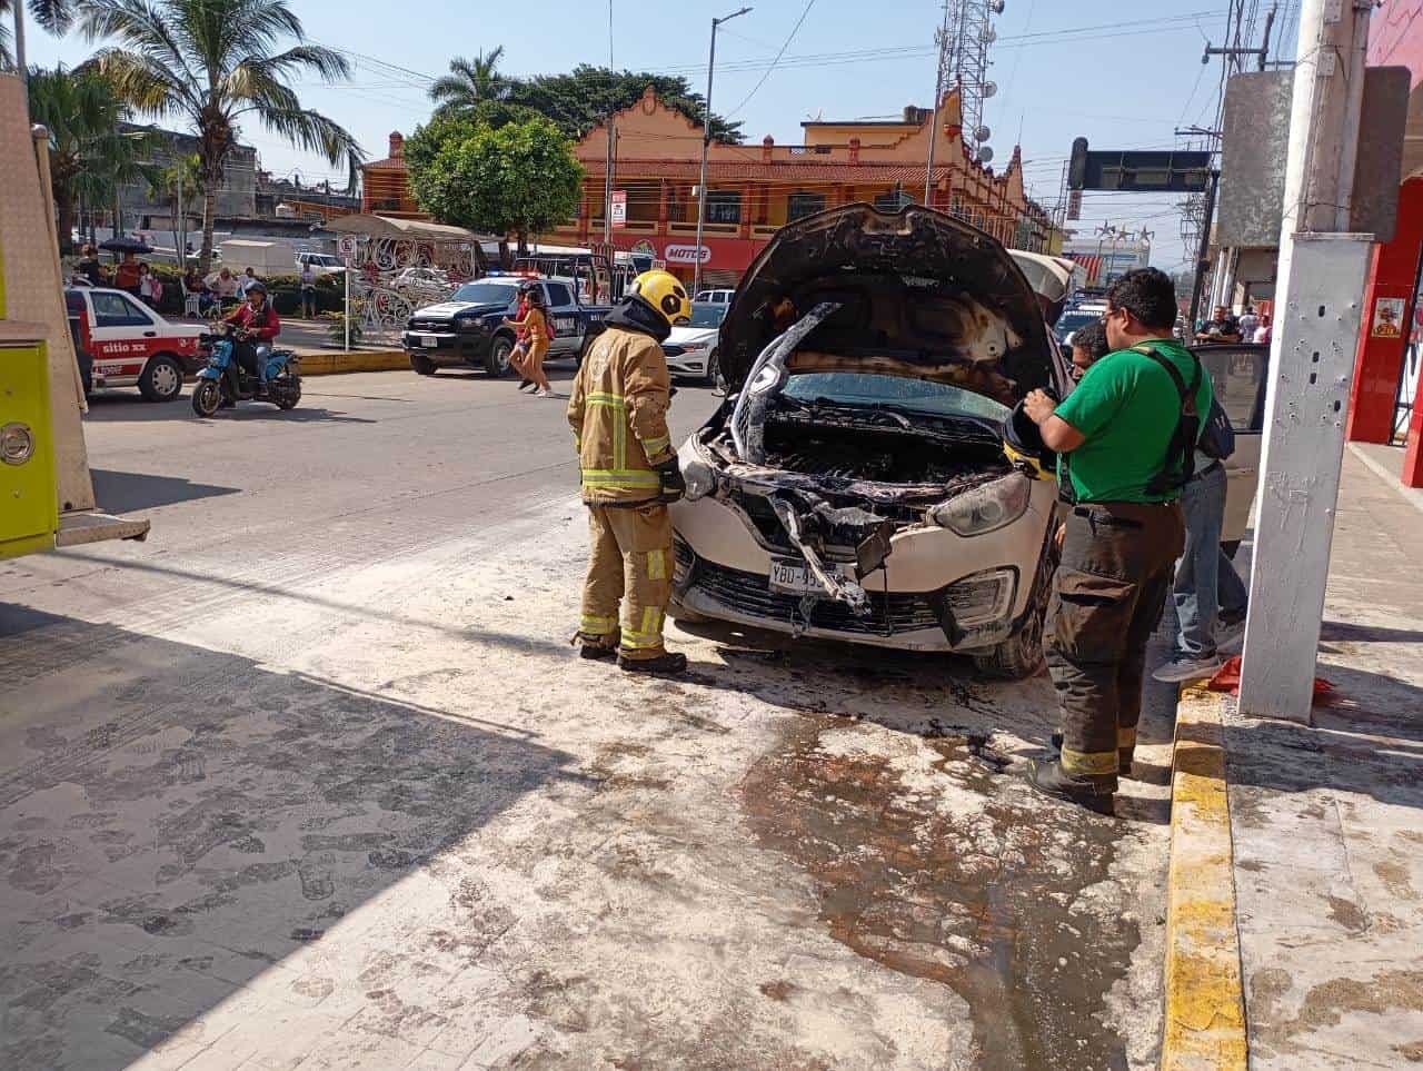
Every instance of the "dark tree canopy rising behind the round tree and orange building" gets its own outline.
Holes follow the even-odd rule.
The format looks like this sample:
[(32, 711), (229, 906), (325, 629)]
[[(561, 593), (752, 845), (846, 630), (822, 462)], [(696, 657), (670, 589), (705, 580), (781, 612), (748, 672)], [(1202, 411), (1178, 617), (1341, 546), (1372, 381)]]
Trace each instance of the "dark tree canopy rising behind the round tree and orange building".
[[(652, 85), (657, 100), (702, 125), (704, 98), (693, 93), (686, 78), (647, 71), (613, 71), (586, 63), (569, 74), (539, 74), (515, 81), (505, 97), (548, 115), (568, 137), (581, 138), (602, 122), (609, 111), (630, 108)], [(712, 114), (712, 137), (731, 145), (741, 144), (741, 124)]]

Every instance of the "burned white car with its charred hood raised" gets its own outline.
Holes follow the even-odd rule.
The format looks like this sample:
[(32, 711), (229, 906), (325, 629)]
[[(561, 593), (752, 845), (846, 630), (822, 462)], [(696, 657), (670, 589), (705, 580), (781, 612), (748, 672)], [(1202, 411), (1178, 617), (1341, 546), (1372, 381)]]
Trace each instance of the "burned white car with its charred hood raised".
[(721, 323), (729, 397), (680, 451), (673, 617), (1035, 672), (1056, 484), (1000, 427), (1066, 393), (1052, 268), (918, 207), (781, 229)]

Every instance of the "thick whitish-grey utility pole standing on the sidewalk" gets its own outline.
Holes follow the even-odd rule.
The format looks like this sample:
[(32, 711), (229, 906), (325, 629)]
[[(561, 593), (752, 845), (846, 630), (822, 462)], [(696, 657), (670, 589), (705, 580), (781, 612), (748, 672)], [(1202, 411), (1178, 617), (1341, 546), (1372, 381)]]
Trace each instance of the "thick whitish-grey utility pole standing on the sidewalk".
[(1370, 0), (1303, 0), (1241, 714), (1308, 722), (1373, 235), (1349, 234)]

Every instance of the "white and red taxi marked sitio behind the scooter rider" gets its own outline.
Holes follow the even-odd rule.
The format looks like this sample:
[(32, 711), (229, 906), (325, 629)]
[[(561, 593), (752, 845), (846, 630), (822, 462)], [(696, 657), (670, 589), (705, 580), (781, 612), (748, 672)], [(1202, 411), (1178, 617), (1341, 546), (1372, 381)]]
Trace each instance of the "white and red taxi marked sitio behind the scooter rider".
[(68, 286), (64, 305), (84, 393), (138, 386), (149, 402), (172, 402), (184, 376), (208, 363), (201, 323), (174, 323), (124, 291)]

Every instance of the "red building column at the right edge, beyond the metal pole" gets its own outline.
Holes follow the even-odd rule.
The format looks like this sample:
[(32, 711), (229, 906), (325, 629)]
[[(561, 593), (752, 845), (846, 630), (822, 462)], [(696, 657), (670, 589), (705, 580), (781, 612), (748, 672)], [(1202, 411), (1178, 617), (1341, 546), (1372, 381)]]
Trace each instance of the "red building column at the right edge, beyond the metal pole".
[(1399, 189), (1399, 228), (1392, 242), (1375, 248), (1369, 285), (1363, 292), (1363, 330), (1355, 357), (1353, 390), (1349, 393), (1350, 442), (1386, 443), (1393, 432), (1393, 404), (1403, 372), (1403, 353), (1413, 323), (1400, 323), (1397, 338), (1375, 338), (1373, 313), (1379, 299), (1413, 305), (1413, 288), (1423, 252), (1423, 178), (1410, 178)]

